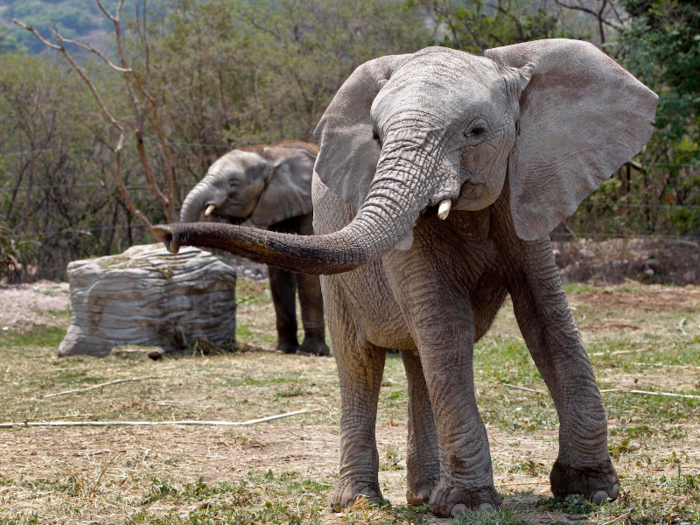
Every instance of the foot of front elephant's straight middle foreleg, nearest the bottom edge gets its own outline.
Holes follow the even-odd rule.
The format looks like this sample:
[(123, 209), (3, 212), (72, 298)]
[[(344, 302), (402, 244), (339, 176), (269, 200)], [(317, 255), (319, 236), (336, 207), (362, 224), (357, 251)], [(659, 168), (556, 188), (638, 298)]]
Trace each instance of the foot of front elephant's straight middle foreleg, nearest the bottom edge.
[(430, 496), (430, 511), (442, 518), (455, 518), (474, 510), (494, 510), (500, 506), (501, 497), (493, 485), (466, 487), (443, 479)]

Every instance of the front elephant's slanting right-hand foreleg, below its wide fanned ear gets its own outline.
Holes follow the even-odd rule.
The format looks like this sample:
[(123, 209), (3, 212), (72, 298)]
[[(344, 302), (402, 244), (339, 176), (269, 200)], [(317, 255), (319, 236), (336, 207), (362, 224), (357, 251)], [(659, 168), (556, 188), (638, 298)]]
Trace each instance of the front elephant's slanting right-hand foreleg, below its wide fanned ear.
[(520, 330), (559, 415), (552, 493), (559, 498), (582, 494), (596, 503), (615, 499), (619, 481), (608, 454), (603, 399), (550, 243), (523, 244), (524, 271), (509, 290)]

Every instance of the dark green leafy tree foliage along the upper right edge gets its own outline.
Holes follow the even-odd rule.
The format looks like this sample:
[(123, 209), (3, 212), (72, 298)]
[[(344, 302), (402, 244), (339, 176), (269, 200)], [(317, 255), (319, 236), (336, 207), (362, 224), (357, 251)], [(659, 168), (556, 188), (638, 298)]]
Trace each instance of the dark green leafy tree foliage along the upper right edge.
[[(620, 34), (619, 58), (659, 94), (656, 133), (643, 159), (661, 164), (654, 188), (669, 204), (700, 205), (700, 5), (693, 0), (624, 0), (631, 23)], [(651, 188), (650, 188), (651, 189)], [(700, 233), (700, 210), (673, 220)]]

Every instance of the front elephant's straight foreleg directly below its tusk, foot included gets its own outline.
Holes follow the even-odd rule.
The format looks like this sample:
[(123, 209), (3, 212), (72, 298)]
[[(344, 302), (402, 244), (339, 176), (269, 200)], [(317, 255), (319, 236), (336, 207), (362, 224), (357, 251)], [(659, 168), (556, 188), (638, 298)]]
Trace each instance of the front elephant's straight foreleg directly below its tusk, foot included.
[(475, 325), (468, 290), (455, 274), (458, 254), (446, 258), (449, 266), (443, 265), (429, 243), (416, 235), (408, 256), (390, 253), (386, 267), (418, 348), (439, 443), (440, 480), (430, 495), (430, 510), (450, 516), (495, 508), (501, 498), (494, 488), (488, 437), (476, 406)]

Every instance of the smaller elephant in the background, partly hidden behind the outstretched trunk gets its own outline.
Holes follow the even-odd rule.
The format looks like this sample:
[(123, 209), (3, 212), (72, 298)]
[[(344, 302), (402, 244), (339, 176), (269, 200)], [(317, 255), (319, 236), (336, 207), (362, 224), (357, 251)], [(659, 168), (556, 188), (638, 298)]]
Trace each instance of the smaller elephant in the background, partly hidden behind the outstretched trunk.
[[(250, 220), (271, 231), (311, 235), (311, 175), (317, 154), (315, 144), (292, 140), (230, 151), (189, 192), (180, 220), (195, 222), (204, 211), (206, 216), (234, 223)], [(278, 348), (286, 354), (328, 355), (318, 276), (273, 266), (268, 269)], [(301, 346), (297, 341), (297, 289), (304, 325)]]

